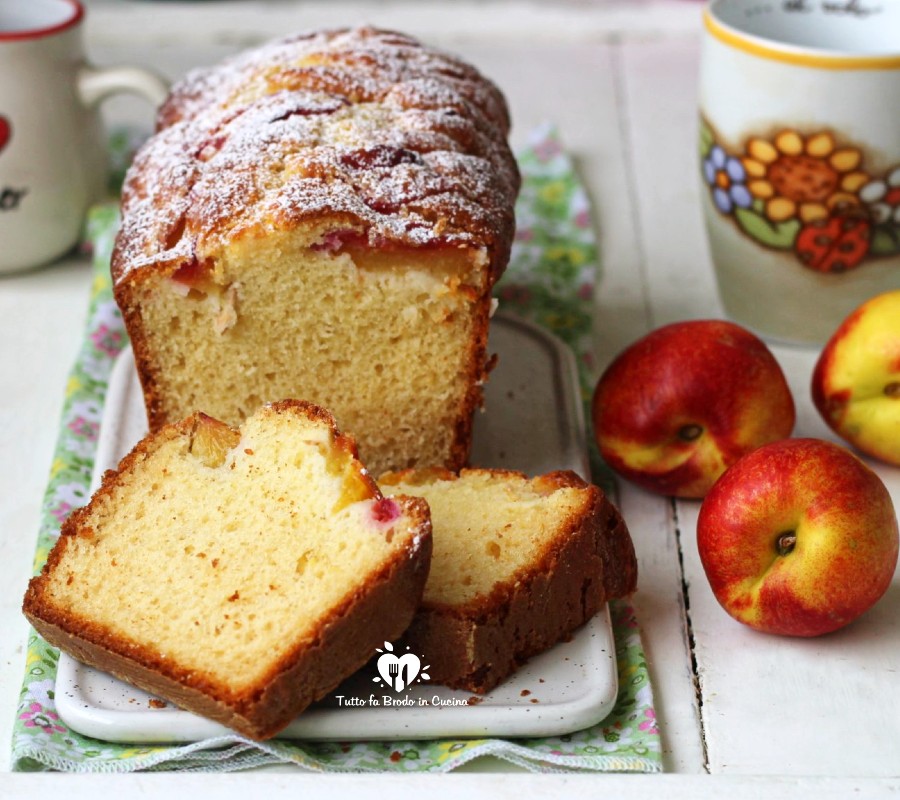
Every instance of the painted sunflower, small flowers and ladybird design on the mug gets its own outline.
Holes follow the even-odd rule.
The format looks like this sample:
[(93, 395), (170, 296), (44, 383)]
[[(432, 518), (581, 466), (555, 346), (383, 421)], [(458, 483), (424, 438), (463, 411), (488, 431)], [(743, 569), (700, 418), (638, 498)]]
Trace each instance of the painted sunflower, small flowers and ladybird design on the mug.
[(718, 212), (759, 244), (793, 251), (808, 269), (842, 273), (900, 252), (900, 214), (885, 213), (892, 188), (900, 192), (900, 168), (871, 175), (863, 149), (832, 131), (751, 136), (743, 152), (729, 153), (701, 120), (700, 154)]

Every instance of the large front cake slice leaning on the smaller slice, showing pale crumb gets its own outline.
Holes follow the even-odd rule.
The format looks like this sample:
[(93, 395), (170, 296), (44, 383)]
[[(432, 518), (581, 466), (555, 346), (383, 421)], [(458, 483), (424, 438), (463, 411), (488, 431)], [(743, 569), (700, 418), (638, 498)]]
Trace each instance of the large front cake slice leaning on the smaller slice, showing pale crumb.
[(431, 553), (330, 415), (264, 406), (150, 434), (73, 512), (25, 595), (51, 644), (254, 739), (398, 637)]

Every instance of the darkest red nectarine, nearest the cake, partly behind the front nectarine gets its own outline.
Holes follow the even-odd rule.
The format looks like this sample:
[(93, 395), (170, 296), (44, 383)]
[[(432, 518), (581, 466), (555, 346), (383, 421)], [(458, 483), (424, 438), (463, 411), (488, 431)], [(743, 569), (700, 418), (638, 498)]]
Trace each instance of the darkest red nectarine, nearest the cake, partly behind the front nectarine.
[(790, 436), (794, 401), (766, 345), (721, 320), (665, 325), (620, 353), (592, 404), (600, 453), (640, 486), (703, 497), (745, 453)]

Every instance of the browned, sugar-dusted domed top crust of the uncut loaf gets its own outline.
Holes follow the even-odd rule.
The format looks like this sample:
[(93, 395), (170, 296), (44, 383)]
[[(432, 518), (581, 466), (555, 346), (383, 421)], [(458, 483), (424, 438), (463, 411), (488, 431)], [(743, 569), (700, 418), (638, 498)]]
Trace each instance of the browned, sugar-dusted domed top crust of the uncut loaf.
[(157, 128), (126, 179), (116, 281), (317, 219), (373, 246), (484, 247), (494, 277), (508, 259), (519, 175), (503, 96), (404, 35), (324, 31), (247, 51), (189, 73)]

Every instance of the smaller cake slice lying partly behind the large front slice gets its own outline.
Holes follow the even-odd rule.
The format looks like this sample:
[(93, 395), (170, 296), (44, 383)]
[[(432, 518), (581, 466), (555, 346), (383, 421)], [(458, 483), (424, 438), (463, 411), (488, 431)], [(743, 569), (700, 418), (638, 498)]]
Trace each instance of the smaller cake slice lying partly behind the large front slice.
[(622, 517), (573, 472), (406, 470), (379, 483), (431, 508), (431, 572), (404, 643), (437, 683), (487, 692), (635, 589)]

